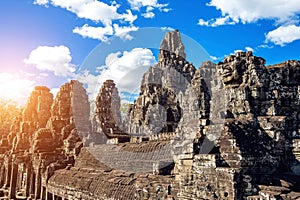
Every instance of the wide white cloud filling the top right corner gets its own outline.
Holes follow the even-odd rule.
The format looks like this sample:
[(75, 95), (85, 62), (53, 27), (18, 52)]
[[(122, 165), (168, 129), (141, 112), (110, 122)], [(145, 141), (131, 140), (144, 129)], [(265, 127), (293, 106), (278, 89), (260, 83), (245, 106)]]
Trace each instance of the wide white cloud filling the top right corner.
[(291, 23), (291, 20), (298, 20), (300, 12), (299, 0), (211, 0), (207, 5), (216, 7), (223, 18), (229, 17), (235, 23), (252, 23), (259, 19)]

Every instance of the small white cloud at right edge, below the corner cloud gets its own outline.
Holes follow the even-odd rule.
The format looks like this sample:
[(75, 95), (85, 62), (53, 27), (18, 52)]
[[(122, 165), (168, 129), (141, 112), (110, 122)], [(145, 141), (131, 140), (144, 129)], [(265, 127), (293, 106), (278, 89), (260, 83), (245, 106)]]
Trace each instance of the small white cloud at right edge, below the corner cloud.
[(295, 40), (300, 39), (300, 26), (288, 25), (270, 31), (266, 34), (266, 41), (273, 42), (276, 45), (284, 46)]

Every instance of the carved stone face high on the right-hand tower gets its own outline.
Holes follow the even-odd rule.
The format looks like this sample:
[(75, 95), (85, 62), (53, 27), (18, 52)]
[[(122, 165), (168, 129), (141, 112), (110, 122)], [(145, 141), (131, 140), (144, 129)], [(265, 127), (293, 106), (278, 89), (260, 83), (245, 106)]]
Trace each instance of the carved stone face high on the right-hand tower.
[(240, 63), (229, 62), (221, 66), (221, 77), (225, 85), (239, 84), (241, 82), (241, 65)]

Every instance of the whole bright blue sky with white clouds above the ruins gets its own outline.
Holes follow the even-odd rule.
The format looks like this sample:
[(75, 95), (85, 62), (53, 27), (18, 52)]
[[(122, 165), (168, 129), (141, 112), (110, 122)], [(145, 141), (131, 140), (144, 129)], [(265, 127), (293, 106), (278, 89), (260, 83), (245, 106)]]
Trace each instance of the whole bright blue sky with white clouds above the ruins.
[[(198, 54), (218, 62), (251, 49), (267, 64), (300, 60), (299, 16), (299, 0), (2, 0), (0, 97), (24, 103), (34, 85), (55, 93), (70, 79), (89, 94), (104, 78), (126, 82), (129, 72), (156, 62), (153, 48), (172, 29), (190, 41), (196, 67)], [(139, 81), (120, 84), (121, 91)]]

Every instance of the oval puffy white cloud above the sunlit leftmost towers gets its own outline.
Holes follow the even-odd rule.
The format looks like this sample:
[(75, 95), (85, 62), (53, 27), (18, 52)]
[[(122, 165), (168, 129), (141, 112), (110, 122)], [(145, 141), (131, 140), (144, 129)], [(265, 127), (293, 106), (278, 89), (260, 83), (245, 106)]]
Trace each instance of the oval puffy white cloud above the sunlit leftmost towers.
[(39, 46), (24, 60), (41, 71), (51, 71), (56, 76), (71, 76), (75, 72), (75, 65), (71, 63), (72, 57), (66, 46)]

